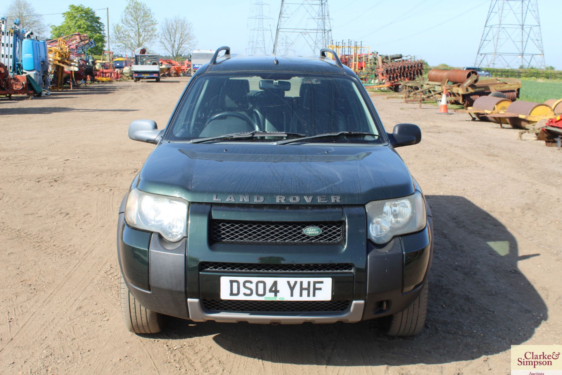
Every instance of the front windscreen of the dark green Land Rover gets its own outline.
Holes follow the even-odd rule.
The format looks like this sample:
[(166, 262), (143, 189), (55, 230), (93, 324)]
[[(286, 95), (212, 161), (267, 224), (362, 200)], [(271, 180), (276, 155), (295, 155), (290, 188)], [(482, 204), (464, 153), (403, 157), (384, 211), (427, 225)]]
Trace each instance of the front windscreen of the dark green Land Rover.
[[(380, 134), (349, 77), (298, 73), (203, 74), (194, 78), (166, 132), (166, 141), (241, 132), (306, 136), (333, 132)], [(268, 141), (257, 137), (252, 142)], [(329, 142), (382, 143), (380, 137), (339, 137)]]

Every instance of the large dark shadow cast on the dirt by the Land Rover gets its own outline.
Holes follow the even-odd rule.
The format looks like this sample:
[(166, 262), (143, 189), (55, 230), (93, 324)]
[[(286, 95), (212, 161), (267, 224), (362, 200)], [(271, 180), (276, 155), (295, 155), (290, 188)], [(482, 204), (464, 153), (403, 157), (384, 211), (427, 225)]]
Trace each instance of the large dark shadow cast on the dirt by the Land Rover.
[[(547, 308), (522, 275), (515, 238), (493, 216), (459, 196), (428, 196), (435, 253), (427, 327), (421, 335), (388, 337), (377, 321), (261, 326), (170, 318), (157, 336), (215, 335), (231, 353), (275, 363), (316, 365), (438, 364), (509, 350), (533, 336)], [(151, 338), (154, 338), (153, 336)]]

